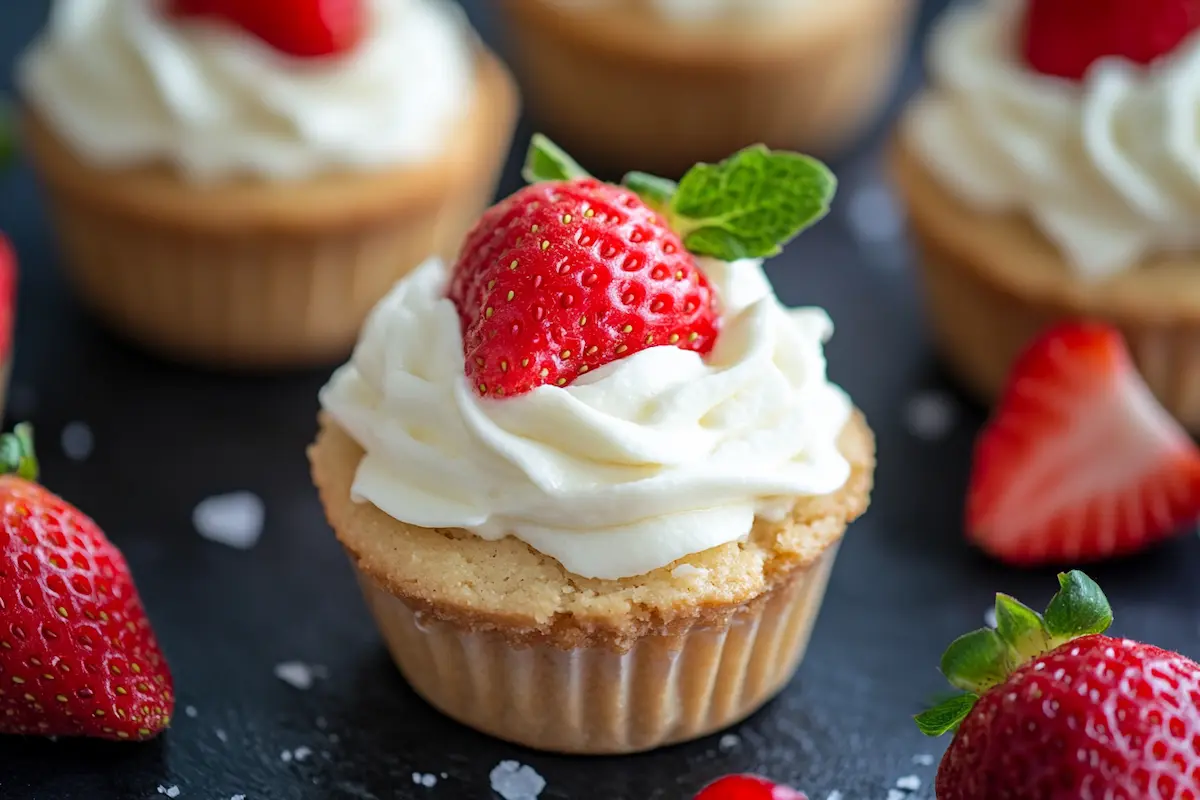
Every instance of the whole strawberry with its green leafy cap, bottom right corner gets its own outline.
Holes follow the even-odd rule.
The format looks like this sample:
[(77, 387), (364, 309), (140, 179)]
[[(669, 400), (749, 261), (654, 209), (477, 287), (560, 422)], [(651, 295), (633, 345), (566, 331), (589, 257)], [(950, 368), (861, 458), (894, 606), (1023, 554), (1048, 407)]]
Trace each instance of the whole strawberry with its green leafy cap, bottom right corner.
[(996, 630), (956, 639), (942, 672), (966, 694), (917, 717), (956, 729), (938, 800), (1195, 800), (1200, 664), (1100, 636), (1112, 621), (1082, 572), (1040, 615), (996, 596)]

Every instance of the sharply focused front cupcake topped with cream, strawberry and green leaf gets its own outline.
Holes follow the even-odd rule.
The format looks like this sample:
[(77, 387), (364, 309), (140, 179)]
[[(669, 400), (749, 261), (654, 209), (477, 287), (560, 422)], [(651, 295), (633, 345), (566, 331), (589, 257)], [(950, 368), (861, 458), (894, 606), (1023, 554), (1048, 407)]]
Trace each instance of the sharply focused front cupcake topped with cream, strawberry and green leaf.
[(761, 261), (833, 178), (751, 148), (613, 186), (540, 137), (526, 174), (372, 312), (322, 391), (313, 480), (449, 716), (568, 753), (702, 736), (791, 679), (868, 505), (829, 318)]

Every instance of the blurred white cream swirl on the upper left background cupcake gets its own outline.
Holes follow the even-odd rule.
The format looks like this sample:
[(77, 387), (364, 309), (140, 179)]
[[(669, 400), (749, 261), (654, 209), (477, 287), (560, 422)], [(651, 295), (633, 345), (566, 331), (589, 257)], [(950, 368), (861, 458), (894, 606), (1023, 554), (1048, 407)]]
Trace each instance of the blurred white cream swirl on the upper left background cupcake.
[(302, 179), (437, 155), (464, 113), (472, 40), (443, 0), (367, 0), (365, 40), (305, 60), (158, 0), (55, 0), (24, 54), (26, 101), (84, 161), (193, 180)]

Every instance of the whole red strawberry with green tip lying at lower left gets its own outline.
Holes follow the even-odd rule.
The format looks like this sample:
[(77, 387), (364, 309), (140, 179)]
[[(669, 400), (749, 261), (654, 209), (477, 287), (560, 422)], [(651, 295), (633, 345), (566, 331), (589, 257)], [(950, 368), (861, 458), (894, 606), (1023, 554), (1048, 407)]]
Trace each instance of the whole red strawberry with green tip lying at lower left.
[(125, 559), (34, 482), (28, 426), (0, 463), (18, 473), (0, 476), (0, 734), (156, 736), (173, 684)]

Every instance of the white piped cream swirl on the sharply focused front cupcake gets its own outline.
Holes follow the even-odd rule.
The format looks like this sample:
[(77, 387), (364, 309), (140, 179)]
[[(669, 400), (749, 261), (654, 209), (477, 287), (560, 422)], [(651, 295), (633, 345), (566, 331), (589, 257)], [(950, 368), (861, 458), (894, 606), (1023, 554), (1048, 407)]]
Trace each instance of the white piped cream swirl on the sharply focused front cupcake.
[(758, 261), (701, 266), (725, 309), (707, 359), (654, 347), (570, 386), (498, 399), (464, 375), (449, 270), (422, 265), (376, 307), (320, 395), (366, 451), (355, 500), (624, 578), (840, 488), (851, 404), (826, 379), (829, 318), (784, 308)]

